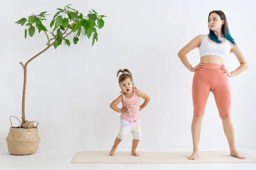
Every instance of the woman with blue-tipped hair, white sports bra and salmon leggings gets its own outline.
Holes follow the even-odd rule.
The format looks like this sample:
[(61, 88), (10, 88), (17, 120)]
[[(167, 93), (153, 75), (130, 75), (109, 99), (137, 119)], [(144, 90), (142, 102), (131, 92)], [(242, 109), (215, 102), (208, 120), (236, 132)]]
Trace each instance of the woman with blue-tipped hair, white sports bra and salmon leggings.
[[(201, 122), (210, 91), (214, 95), (222, 120), (224, 133), (230, 147), (230, 155), (236, 156), (239, 159), (246, 159), (246, 157), (241, 156), (237, 152), (235, 147), (233, 124), (230, 119), (231, 97), (229, 77), (234, 77), (246, 70), (248, 64), (240, 48), (230, 36), (224, 12), (211, 11), (208, 16), (208, 26), (208, 35), (198, 35), (178, 53), (178, 57), (186, 68), (191, 72), (195, 72), (192, 82), (194, 116), (191, 132), (193, 153), (188, 159), (195, 160), (198, 157)], [(186, 58), (186, 54), (195, 48), (199, 48), (200, 63), (192, 67)], [(224, 65), (224, 61), (230, 53), (235, 54), (240, 62), (240, 66), (231, 72)]]

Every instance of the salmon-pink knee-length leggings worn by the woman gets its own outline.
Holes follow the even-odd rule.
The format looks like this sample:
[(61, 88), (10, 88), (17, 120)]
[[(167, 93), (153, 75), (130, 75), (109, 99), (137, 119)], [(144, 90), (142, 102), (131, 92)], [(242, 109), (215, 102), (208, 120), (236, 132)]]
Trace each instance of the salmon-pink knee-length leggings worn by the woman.
[(203, 116), (210, 91), (213, 93), (221, 118), (230, 117), (231, 97), (227, 73), (222, 65), (204, 63), (195, 71), (192, 83), (194, 116)]

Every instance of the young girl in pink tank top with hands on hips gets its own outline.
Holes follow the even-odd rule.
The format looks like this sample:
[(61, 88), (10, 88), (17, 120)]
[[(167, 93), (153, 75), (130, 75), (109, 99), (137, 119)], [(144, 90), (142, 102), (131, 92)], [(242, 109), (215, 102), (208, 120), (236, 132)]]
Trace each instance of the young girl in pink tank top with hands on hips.
[[(119, 76), (119, 73), (122, 73)], [(122, 141), (124, 135), (129, 131), (134, 136), (132, 141), (132, 149), (131, 154), (134, 156), (140, 156), (136, 152), (137, 146), (140, 141), (140, 120), (138, 117), (138, 112), (141, 111), (148, 105), (150, 97), (138, 90), (132, 80), (132, 74), (128, 69), (119, 70), (117, 72), (117, 77), (119, 76), (119, 86), (121, 87), (121, 95), (117, 97), (111, 104), (110, 107), (116, 111), (121, 113), (120, 119), (120, 130), (114, 145), (110, 151), (110, 155), (113, 156), (118, 144)], [(140, 105), (140, 97), (142, 97), (145, 101), (142, 105)], [(122, 102), (122, 109), (119, 109), (116, 105)]]

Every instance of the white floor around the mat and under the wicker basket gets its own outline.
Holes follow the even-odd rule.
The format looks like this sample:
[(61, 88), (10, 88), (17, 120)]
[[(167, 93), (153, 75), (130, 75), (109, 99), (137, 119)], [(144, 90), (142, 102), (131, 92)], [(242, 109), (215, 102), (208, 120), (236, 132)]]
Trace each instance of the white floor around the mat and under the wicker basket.
[[(256, 148), (237, 148), (256, 157)], [(72, 164), (77, 151), (38, 150), (27, 156), (10, 155), (0, 144), (0, 170), (256, 170), (256, 163), (192, 164)]]

